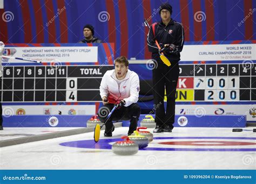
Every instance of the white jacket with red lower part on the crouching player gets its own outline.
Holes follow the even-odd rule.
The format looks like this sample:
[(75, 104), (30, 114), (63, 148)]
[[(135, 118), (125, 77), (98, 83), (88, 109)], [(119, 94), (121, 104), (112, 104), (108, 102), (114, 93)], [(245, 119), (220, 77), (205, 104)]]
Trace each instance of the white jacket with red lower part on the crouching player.
[(107, 70), (100, 82), (100, 96), (107, 97), (109, 103), (116, 103), (119, 100), (125, 100), (125, 107), (128, 107), (132, 103), (137, 103), (139, 98), (139, 76), (127, 70), (126, 76), (122, 82), (118, 85), (116, 72), (114, 69)]

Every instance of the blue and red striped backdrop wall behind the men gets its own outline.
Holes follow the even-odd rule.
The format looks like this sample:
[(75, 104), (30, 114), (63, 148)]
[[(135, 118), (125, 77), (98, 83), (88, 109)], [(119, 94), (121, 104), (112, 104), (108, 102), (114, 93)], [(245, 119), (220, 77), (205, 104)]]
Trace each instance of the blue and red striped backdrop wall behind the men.
[[(162, 1), (166, 2), (166, 1)], [(255, 0), (175, 0), (174, 20), (183, 23), (186, 41), (255, 40)], [(4, 0), (0, 40), (4, 43), (77, 43), (83, 26), (115, 43), (116, 56), (150, 58), (147, 27), (160, 19), (159, 0)]]

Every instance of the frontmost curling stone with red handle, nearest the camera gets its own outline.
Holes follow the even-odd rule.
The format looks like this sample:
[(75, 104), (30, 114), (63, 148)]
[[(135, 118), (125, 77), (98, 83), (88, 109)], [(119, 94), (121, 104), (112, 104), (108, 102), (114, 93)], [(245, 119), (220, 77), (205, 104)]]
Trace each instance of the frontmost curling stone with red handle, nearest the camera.
[(129, 137), (123, 136), (123, 141), (117, 141), (112, 145), (112, 151), (118, 155), (132, 155), (136, 154), (139, 150), (138, 144), (131, 141)]

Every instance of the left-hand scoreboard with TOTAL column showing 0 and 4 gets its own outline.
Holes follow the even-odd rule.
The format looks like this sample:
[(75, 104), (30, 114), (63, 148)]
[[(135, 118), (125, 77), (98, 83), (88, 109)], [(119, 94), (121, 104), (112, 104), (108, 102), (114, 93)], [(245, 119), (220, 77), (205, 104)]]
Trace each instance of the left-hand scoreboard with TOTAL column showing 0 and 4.
[(113, 66), (4, 66), (2, 102), (96, 102)]

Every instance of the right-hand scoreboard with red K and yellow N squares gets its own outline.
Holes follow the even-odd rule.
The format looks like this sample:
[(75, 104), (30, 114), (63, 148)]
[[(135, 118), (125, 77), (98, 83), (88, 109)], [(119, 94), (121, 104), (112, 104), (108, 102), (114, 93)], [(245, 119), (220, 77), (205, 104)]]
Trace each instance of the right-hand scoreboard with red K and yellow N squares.
[(181, 64), (176, 100), (255, 101), (256, 65), (253, 63)]

